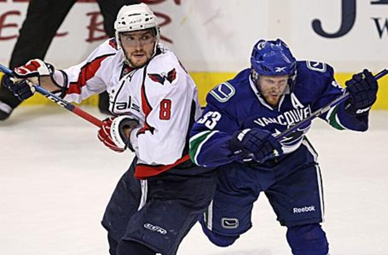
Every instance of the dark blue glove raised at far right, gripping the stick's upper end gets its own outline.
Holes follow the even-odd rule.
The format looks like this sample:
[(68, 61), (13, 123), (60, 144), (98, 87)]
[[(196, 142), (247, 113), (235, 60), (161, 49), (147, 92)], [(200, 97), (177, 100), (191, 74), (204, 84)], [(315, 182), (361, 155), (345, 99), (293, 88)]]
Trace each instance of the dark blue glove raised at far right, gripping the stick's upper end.
[(368, 112), (377, 99), (377, 80), (372, 73), (364, 69), (362, 73), (353, 75), (346, 83), (346, 91), (350, 99), (345, 109), (352, 114)]

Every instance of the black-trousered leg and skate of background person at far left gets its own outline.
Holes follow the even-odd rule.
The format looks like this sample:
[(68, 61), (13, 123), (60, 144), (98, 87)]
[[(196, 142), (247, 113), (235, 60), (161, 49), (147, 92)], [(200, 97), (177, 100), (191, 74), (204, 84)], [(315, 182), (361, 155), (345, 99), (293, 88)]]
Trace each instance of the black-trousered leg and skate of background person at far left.
[[(9, 64), (11, 69), (31, 59), (44, 59), (56, 31), (75, 2), (76, 0), (30, 1), (26, 19), (12, 52)], [(0, 87), (0, 120), (7, 119), (12, 109), (20, 103), (9, 90)]]

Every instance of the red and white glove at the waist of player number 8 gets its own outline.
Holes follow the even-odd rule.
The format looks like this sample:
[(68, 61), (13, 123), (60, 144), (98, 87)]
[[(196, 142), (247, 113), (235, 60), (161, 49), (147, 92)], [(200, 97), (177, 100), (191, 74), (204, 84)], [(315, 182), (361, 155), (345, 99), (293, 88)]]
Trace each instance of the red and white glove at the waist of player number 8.
[(138, 120), (128, 116), (119, 116), (109, 117), (103, 120), (102, 123), (97, 136), (105, 146), (116, 152), (123, 152), (127, 148), (132, 148), (129, 137), (124, 135), (124, 128), (129, 128), (130, 130), (136, 128), (139, 125)]

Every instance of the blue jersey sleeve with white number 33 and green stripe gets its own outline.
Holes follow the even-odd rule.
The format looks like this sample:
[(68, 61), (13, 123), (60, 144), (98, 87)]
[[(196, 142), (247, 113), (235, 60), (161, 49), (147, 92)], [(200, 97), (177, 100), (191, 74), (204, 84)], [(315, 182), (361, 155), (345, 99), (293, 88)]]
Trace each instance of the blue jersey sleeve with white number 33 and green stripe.
[(210, 92), (202, 117), (194, 123), (190, 138), (190, 158), (196, 165), (218, 166), (232, 162), (229, 141), (239, 129), (238, 121)]

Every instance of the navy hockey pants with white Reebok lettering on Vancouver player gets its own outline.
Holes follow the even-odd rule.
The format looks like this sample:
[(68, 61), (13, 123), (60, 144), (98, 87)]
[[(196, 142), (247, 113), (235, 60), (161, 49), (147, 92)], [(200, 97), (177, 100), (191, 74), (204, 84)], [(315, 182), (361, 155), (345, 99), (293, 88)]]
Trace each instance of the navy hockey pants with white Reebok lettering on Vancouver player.
[(279, 163), (223, 165), (216, 192), (205, 216), (205, 233), (235, 237), (251, 228), (253, 203), (264, 192), (281, 225), (323, 221), (323, 194), (317, 154), (307, 141)]

